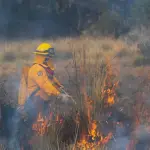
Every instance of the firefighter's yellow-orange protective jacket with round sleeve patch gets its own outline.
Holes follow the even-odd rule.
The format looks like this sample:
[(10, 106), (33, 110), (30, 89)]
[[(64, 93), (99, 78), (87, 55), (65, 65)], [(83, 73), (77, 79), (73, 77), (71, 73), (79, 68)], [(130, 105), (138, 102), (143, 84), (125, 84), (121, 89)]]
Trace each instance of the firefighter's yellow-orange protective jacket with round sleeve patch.
[(56, 78), (49, 79), (49, 76), (40, 64), (33, 65), (28, 74), (28, 95), (30, 96), (38, 87), (40, 90), (35, 96), (40, 96), (43, 100), (48, 100), (51, 95), (59, 95), (59, 89), (55, 85)]

